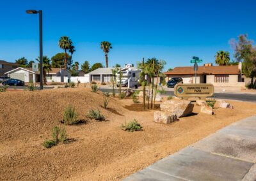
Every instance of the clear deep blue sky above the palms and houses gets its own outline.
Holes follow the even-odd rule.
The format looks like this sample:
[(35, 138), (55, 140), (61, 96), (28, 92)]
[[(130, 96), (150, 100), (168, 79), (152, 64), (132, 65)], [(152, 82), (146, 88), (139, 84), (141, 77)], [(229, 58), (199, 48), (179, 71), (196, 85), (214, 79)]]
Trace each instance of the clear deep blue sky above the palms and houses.
[(100, 41), (109, 41), (109, 66), (157, 57), (167, 68), (190, 66), (196, 55), (214, 62), (218, 50), (233, 54), (228, 41), (247, 33), (256, 40), (256, 1), (210, 0), (8, 0), (0, 8), (0, 59), (14, 62), (39, 54), (38, 15), (43, 10), (44, 55), (63, 52), (60, 36), (69, 36), (73, 60), (105, 64)]

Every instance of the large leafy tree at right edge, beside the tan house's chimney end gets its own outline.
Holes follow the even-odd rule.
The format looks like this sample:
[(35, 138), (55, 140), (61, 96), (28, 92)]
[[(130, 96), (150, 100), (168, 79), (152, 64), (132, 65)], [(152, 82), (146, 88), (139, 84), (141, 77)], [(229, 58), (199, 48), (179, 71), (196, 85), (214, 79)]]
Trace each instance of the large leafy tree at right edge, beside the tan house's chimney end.
[(237, 62), (243, 62), (242, 72), (247, 77), (251, 78), (251, 85), (253, 85), (253, 78), (256, 76), (256, 47), (252, 45), (251, 40), (248, 40), (247, 34), (238, 36), (238, 41), (235, 39), (230, 40), (230, 45), (234, 49), (234, 57)]

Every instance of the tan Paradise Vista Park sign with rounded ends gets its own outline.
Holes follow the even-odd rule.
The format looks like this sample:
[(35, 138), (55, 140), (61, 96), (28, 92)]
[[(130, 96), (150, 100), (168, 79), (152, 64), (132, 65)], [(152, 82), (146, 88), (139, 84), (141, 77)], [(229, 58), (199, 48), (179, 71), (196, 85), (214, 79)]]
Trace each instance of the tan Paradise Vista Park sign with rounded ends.
[(178, 83), (174, 87), (174, 95), (178, 98), (200, 98), (205, 100), (212, 97), (214, 86), (211, 83)]

